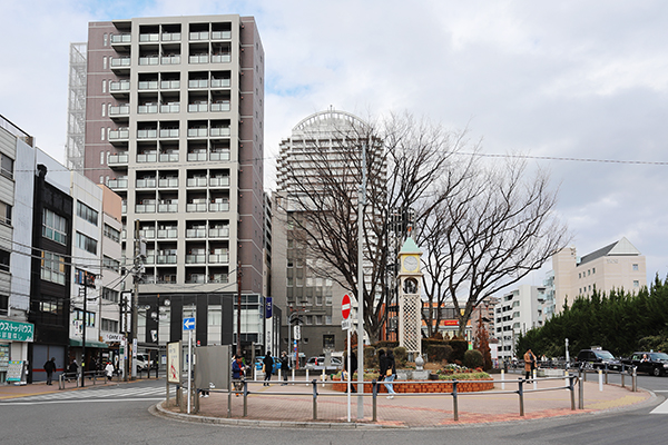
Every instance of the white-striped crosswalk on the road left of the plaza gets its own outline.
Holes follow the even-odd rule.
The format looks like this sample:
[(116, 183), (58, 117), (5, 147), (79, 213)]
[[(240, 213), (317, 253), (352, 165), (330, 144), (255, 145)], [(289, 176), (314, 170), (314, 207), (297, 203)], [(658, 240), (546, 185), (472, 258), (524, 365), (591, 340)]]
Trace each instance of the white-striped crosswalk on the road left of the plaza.
[[(176, 389), (170, 389), (169, 397), (175, 397)], [(107, 387), (78, 390), (65, 390), (50, 394), (40, 394), (20, 398), (0, 400), (0, 406), (8, 405), (43, 405), (87, 402), (150, 402), (164, 400), (165, 387)]]

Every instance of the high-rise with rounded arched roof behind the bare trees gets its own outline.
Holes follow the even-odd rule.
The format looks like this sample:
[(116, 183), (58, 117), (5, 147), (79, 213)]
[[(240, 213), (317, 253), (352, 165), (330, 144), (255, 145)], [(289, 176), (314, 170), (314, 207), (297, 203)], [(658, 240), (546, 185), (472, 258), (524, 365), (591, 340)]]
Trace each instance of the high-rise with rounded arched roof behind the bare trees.
[[(293, 322), (299, 319), (302, 328), (297, 346), (303, 358), (343, 349), (346, 333), (341, 328), (341, 300), (350, 291), (332, 278), (336, 275), (333, 268), (323, 273), (322, 268), (327, 266), (324, 266), (322, 258), (317, 259), (318, 253), (311, 251), (297, 239), (297, 229), (291, 220), (311, 209), (302, 207), (308, 198), (302, 199), (301, 204), (291, 198), (306, 192), (310, 197), (322, 194), (325, 186), (318, 190), (317, 184), (318, 175), (323, 175), (324, 170), (327, 171), (325, 175), (331, 174), (332, 178), (340, 181), (351, 180), (350, 165), (355, 162), (352, 151), (357, 151), (360, 146), (360, 136), (355, 130), (365, 127), (366, 123), (356, 116), (330, 109), (304, 118), (293, 128), (291, 137), (281, 142), (272, 225), (272, 264), (273, 269), (279, 273), (273, 275), (272, 291), (275, 303), (286, 308), (282, 322), (281, 349), (295, 352), (294, 344), (287, 345), (288, 338), (294, 338), (288, 327), (291, 317)], [(380, 159), (379, 145), (370, 144), (366, 156)], [(382, 175), (384, 170), (370, 180), (383, 180)], [(295, 181), (299, 180), (302, 185), (297, 186)], [(348, 186), (355, 194), (355, 200), (357, 184)], [(352, 210), (353, 216), (355, 209), (356, 205)], [(314, 210), (321, 211), (322, 208)], [(351, 220), (351, 224), (355, 221)], [(320, 266), (315, 267), (316, 264)]]

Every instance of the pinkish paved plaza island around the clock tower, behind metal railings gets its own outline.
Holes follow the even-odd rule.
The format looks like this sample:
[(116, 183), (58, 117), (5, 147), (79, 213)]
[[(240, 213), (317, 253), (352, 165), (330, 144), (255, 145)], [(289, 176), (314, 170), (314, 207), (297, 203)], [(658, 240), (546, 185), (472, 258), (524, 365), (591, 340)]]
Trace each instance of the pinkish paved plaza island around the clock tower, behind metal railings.
[[(570, 390), (553, 389), (532, 392), (533, 384), (524, 385), (524, 416), (520, 416), (518, 394), (499, 394), (500, 376), (495, 376), (494, 389), (484, 393), (460, 393), (458, 397), (459, 421), (454, 421), (452, 396), (449, 394), (397, 394), (387, 399), (386, 394), (377, 396), (377, 422), (372, 422), (371, 395), (364, 398), (364, 418), (357, 419), (357, 396), (351, 395), (351, 423), (347, 423), (347, 397), (331, 390), (331, 386), (317, 386), (317, 421), (313, 421), (313, 386), (299, 383), (282, 386), (274, 383), (269, 387), (261, 383), (249, 384), (252, 394), (247, 397), (247, 416), (243, 417), (244, 397), (232, 397), (232, 418), (227, 418), (227, 393), (210, 393), (208, 398), (199, 398), (197, 415), (181, 414), (177, 407), (157, 411), (168, 417), (203, 423), (232, 423), (239, 425), (302, 426), (302, 427), (438, 427), (445, 425), (487, 424), (495, 422), (523, 421), (557, 416), (578, 416), (635, 407), (655, 398), (650, 392), (617, 385), (605, 385), (599, 392), (598, 383), (584, 383), (584, 409), (571, 411)], [(507, 377), (508, 378), (508, 377)], [(563, 379), (542, 380), (538, 388), (563, 387)], [(517, 390), (517, 378), (505, 380), (505, 390)], [(578, 388), (576, 387), (576, 408)], [(315, 424), (315, 425), (314, 425)]]

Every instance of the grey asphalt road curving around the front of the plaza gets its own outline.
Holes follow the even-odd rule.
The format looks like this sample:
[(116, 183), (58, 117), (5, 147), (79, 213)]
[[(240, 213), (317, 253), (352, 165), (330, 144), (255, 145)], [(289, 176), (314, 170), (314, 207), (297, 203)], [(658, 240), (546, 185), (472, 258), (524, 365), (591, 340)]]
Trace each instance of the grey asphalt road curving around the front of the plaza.
[(164, 397), (165, 380), (90, 387), (0, 400), (4, 444), (629, 444), (665, 443), (668, 411), (652, 411), (668, 394), (668, 377), (639, 377), (659, 396), (635, 411), (442, 429), (324, 431), (245, 428), (191, 424), (156, 417), (150, 406)]

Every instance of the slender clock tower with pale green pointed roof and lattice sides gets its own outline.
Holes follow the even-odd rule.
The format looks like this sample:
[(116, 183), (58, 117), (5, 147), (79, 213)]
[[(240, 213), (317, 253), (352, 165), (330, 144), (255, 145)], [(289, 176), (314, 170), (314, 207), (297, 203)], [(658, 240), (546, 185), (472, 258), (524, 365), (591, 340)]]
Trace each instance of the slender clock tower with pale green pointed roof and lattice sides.
[(421, 256), (413, 238), (406, 238), (399, 253), (399, 346), (405, 347), (413, 359), (422, 354)]

